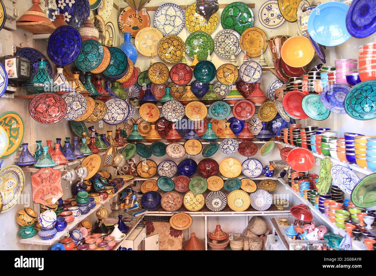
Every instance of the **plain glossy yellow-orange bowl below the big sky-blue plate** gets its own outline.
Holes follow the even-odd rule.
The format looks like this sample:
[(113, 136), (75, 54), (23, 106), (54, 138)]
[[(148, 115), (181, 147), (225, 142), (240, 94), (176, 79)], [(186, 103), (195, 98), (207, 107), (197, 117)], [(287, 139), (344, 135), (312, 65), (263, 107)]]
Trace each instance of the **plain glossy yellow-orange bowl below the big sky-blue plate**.
[(295, 68), (307, 65), (313, 59), (315, 50), (304, 36), (293, 36), (285, 41), (281, 49), (282, 60)]

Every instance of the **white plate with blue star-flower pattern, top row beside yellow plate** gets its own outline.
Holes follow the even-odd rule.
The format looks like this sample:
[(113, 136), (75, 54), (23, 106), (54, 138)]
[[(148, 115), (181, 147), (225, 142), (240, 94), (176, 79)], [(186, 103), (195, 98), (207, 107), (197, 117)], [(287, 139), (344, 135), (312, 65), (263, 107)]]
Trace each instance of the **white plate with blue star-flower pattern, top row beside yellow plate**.
[(164, 36), (177, 35), (185, 24), (185, 15), (178, 5), (166, 3), (160, 6), (154, 14), (154, 27)]

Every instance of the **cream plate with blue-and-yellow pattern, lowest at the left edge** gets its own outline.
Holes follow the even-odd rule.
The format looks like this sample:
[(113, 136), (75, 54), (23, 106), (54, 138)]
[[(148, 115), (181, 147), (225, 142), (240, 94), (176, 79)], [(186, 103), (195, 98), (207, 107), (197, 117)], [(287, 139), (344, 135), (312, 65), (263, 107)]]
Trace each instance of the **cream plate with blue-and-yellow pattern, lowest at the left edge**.
[(20, 199), (23, 192), (24, 184), (25, 176), (20, 167), (12, 165), (0, 171), (2, 212), (7, 212), (17, 205), (18, 199)]

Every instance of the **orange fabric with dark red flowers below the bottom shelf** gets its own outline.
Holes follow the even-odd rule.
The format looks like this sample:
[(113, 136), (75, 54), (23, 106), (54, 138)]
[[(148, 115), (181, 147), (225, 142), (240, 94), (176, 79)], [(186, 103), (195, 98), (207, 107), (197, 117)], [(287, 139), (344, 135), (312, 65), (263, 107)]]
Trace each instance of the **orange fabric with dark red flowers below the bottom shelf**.
[(183, 231), (168, 222), (144, 222), (146, 237), (159, 234), (159, 250), (182, 250)]

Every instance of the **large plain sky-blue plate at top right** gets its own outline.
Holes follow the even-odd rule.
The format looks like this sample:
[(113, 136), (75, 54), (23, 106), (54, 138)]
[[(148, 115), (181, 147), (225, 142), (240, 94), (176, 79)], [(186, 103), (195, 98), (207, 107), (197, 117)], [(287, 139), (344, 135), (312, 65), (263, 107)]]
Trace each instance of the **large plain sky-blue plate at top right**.
[(318, 5), (308, 19), (308, 33), (318, 44), (332, 47), (346, 42), (350, 33), (346, 27), (346, 13), (349, 9), (344, 3), (330, 1)]

